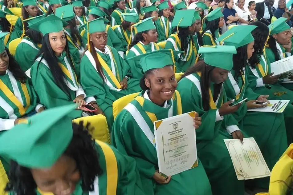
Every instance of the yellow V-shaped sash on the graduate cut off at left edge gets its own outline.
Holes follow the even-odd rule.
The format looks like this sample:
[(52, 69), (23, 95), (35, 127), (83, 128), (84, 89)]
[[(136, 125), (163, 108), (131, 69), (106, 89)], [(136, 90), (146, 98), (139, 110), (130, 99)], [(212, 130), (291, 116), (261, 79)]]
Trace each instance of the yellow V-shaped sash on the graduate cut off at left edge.
[(22, 82), (20, 82), (20, 85), (21, 85), (22, 91), (24, 93), (24, 96), (26, 98), (26, 107), (25, 108), (23, 108), (23, 105), (21, 104), (21, 102), (10, 91), (10, 89), (5, 85), (5, 83), (0, 79), (0, 89), (3, 91), (3, 93), (6, 95), (6, 97), (8, 97), (9, 100), (11, 102), (13, 102), (18, 107), (18, 111), (19, 111), (20, 115), (23, 116), (24, 113), (26, 112), (27, 108), (30, 106), (31, 98), (30, 98), (30, 95), (28, 94), (28, 90), (26, 88), (26, 85)]

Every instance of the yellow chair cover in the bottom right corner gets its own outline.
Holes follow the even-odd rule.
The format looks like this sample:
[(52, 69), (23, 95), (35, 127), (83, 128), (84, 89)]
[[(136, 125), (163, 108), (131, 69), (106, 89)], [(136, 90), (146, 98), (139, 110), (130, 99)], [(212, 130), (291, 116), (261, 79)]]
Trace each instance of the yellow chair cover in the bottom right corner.
[[(257, 193), (256, 195), (286, 195), (287, 185), (292, 185), (293, 171), (293, 144), (283, 153), (279, 161), (273, 167), (268, 193)], [(286, 185), (287, 184), (287, 185)]]

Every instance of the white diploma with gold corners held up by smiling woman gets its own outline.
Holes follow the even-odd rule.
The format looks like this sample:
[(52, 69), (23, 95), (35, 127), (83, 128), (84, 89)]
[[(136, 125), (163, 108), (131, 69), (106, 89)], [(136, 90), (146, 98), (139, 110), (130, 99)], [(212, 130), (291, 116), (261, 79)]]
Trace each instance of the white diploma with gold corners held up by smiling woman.
[(195, 112), (154, 122), (159, 172), (164, 177), (197, 166)]

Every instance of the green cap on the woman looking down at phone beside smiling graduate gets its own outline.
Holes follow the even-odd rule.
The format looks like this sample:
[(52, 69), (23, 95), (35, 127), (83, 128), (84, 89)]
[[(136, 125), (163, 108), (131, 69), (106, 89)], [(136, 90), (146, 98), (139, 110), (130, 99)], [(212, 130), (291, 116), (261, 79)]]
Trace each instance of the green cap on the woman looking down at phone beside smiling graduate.
[(236, 54), (234, 46), (201, 46), (199, 54), (204, 54), (204, 62), (210, 66), (232, 70), (233, 54)]

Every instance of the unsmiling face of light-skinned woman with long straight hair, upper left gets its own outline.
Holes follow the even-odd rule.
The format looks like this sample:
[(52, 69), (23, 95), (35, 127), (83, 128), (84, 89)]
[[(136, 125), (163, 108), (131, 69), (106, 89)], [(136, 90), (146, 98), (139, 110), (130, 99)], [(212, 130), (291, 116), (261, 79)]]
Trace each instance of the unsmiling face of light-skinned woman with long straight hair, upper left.
[(60, 54), (64, 51), (66, 38), (63, 30), (60, 30), (58, 33), (49, 33), (49, 41), (55, 54)]

